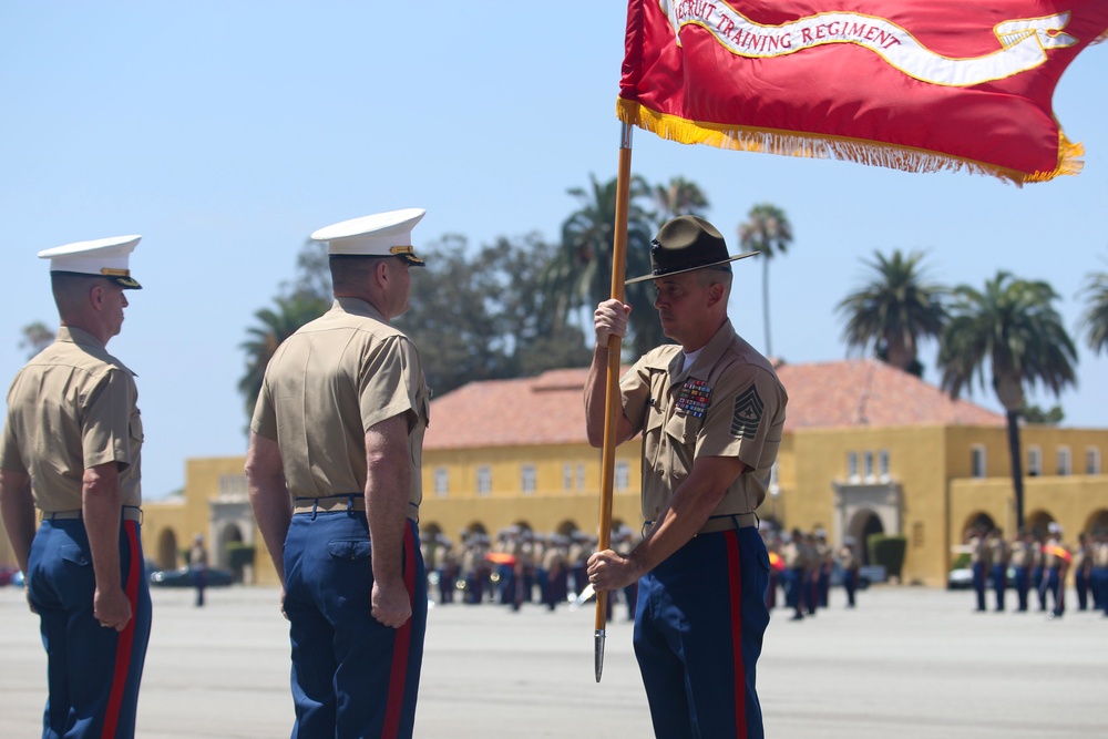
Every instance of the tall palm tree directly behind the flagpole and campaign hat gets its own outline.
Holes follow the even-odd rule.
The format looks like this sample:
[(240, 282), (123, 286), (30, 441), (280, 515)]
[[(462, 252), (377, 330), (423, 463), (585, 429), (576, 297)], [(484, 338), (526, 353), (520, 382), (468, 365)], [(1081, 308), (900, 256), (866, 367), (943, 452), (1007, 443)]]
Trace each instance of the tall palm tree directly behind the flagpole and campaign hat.
[[(568, 191), (581, 207), (562, 224), (562, 243), (541, 280), (547, 296), (545, 304), (552, 306), (557, 317), (555, 329), (579, 308), (592, 307), (612, 295), (617, 181), (602, 184), (593, 175), (589, 179), (588, 191), (579, 187)], [(626, 273), (632, 277), (650, 271), (655, 216), (639, 205), (650, 194), (646, 181), (633, 177), (629, 188)], [(649, 281), (629, 285), (625, 301), (633, 308), (630, 338), (635, 351), (642, 355), (665, 341), (654, 310), (654, 286)]]

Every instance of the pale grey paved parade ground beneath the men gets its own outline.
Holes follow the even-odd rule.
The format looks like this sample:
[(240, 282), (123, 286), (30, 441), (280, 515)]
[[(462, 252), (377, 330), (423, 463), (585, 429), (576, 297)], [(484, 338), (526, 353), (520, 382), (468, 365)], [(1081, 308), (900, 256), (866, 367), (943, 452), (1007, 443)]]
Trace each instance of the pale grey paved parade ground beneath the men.
[[(137, 736), (287, 737), (288, 635), (269, 588), (153, 591)], [(1073, 603), (1073, 593), (1069, 594)], [(771, 739), (1099, 736), (1108, 618), (975, 614), (973, 594), (881, 586), (801, 623), (774, 612), (759, 665)], [(429, 616), (416, 736), (649, 737), (623, 605), (593, 679), (592, 604), (451, 605)], [(45, 655), (22, 591), (0, 588), (0, 735), (41, 732)]]

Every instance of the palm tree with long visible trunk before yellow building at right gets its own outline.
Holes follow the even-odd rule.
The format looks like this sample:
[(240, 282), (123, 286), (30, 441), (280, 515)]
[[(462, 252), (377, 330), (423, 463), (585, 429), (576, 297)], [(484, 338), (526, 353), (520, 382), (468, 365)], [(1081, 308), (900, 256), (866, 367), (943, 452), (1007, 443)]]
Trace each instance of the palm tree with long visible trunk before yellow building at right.
[[(984, 291), (954, 289), (951, 320), (943, 332), (938, 365), (943, 389), (957, 398), (974, 374), (985, 386), (986, 362), (993, 389), (1008, 421), (1008, 453), (1016, 499), (1016, 525), (1024, 525), (1024, 481), (1019, 451), (1019, 411), (1024, 382), (1043, 382), (1055, 397), (1076, 384), (1077, 350), (1054, 309), (1058, 295), (1044, 281), (998, 271)], [(972, 388), (971, 388), (972, 389)]]

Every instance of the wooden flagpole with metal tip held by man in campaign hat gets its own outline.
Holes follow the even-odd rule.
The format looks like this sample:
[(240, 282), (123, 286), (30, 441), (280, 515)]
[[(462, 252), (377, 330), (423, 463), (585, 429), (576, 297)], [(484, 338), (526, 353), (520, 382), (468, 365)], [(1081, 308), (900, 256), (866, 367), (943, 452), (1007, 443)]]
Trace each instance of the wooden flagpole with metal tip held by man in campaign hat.
[[(630, 135), (632, 126), (622, 124), (619, 131), (619, 172), (616, 178), (616, 223), (612, 244), (612, 298), (623, 302), (624, 279), (627, 271), (627, 211), (630, 207)], [(604, 451), (601, 456), (601, 530), (597, 551), (612, 544), (612, 489), (615, 478), (616, 419), (619, 418), (619, 349), (617, 336), (608, 337), (607, 386), (604, 407)], [(608, 618), (607, 591), (596, 594), (596, 632), (594, 639), (594, 667), (596, 681), (604, 670), (604, 638)]]

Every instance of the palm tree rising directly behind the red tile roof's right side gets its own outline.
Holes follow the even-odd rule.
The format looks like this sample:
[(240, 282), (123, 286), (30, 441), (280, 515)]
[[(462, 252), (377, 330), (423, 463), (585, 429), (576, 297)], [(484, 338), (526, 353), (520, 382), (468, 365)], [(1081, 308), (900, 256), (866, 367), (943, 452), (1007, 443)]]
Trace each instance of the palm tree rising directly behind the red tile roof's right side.
[(937, 339), (946, 320), (941, 302), (946, 288), (926, 281), (922, 259), (920, 252), (906, 257), (900, 249), (892, 257), (875, 252), (873, 261), (862, 263), (873, 279), (838, 306), (847, 316), (848, 348), (864, 351), (872, 345), (878, 357), (917, 377), (920, 339)]

